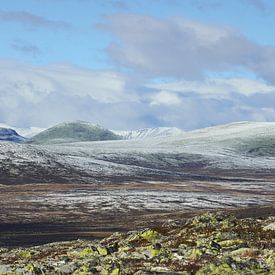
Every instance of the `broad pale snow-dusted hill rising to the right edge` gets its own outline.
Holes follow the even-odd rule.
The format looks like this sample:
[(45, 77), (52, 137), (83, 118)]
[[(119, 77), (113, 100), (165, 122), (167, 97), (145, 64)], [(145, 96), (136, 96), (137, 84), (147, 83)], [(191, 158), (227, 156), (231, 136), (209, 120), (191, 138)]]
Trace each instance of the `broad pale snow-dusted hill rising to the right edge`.
[[(165, 141), (168, 142), (168, 141)], [(274, 122), (237, 122), (186, 132), (182, 138), (171, 137), (174, 146), (182, 146), (186, 152), (215, 155), (253, 151), (274, 153)]]

